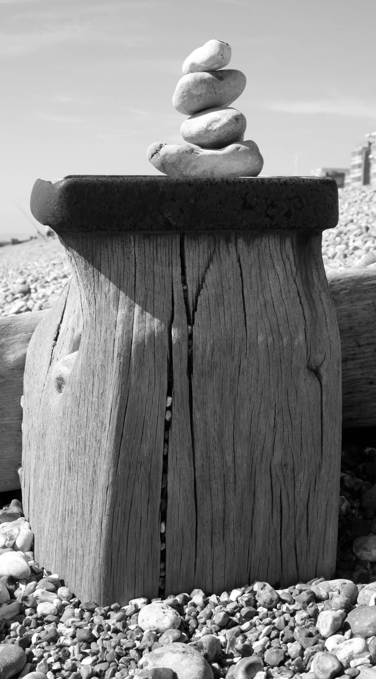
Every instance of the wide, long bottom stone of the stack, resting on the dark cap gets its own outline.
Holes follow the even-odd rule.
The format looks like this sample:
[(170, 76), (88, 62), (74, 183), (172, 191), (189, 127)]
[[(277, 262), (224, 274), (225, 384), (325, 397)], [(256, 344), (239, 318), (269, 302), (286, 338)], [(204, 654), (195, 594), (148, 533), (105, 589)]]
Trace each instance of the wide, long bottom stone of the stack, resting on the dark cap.
[(217, 150), (155, 143), (147, 149), (147, 157), (168, 177), (257, 177), (263, 169), (263, 157), (254, 141)]

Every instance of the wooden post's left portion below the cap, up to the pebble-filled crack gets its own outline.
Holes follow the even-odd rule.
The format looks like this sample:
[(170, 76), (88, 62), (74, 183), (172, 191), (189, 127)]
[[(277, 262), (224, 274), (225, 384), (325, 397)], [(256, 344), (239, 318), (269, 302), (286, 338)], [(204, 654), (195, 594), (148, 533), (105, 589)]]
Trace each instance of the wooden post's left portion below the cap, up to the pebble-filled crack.
[[(36, 558), (56, 564), (81, 598), (122, 605), (158, 591), (171, 244), (161, 248), (156, 238), (132, 236), (65, 244), (78, 283), (81, 343), (61, 394), (52, 371), (73, 349), (60, 346), (63, 304), (55, 308), (54, 348), (40, 346), (43, 327), (29, 345), (24, 511)], [(40, 354), (48, 356), (43, 369)], [(37, 477), (43, 494), (35, 492)]]

